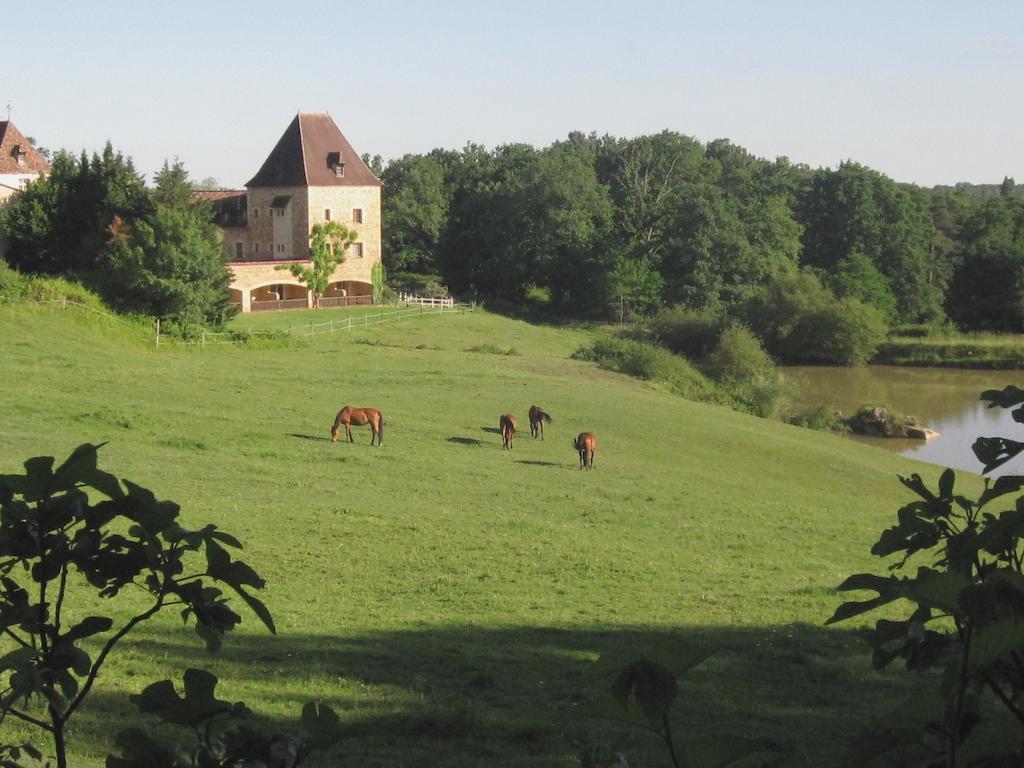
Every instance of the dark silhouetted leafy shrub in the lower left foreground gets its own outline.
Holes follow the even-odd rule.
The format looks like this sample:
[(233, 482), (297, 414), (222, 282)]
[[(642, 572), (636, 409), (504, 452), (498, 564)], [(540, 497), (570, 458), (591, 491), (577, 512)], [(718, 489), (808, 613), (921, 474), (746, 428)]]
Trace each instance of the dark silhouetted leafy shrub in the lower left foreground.
[[(182, 527), (178, 505), (100, 470), (98, 449), (80, 445), (56, 469), (44, 456), (26, 461), (24, 474), (0, 475), (0, 631), (13, 643), (0, 655), (0, 724), (45, 732), (57, 768), (68, 766), (69, 724), (110, 654), (157, 613), (179, 609), (215, 651), (242, 621), (221, 585), (275, 632), (251, 592), (263, 580), (228, 552), (238, 540), (215, 525)], [(96, 597), (129, 588), (146, 601), (120, 626), (83, 615)], [(83, 643), (90, 638), (95, 655)]]

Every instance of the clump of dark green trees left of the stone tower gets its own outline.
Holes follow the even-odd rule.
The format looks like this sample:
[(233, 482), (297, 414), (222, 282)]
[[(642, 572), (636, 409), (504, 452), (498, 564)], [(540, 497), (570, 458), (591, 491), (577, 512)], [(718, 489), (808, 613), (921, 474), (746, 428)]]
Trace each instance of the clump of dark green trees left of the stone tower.
[(57, 152), (0, 213), (4, 259), (23, 272), (61, 274), (115, 309), (181, 329), (231, 315), (230, 273), (209, 202), (177, 160), (147, 187), (130, 158)]

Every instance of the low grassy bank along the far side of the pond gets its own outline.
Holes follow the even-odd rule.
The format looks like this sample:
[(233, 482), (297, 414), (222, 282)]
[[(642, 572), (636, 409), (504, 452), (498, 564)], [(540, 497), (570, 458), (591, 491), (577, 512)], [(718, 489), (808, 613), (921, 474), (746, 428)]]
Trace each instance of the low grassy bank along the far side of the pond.
[(970, 334), (892, 337), (882, 344), (872, 364), (989, 371), (1024, 370), (1024, 336)]

